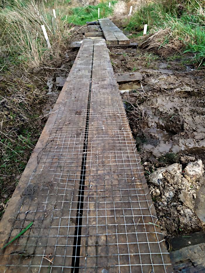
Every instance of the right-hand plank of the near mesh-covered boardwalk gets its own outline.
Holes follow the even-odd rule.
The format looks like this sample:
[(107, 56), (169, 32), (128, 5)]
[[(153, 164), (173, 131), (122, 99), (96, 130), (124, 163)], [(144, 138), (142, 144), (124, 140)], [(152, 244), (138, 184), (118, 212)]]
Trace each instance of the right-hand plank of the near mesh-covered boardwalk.
[(79, 267), (172, 272), (160, 229), (148, 224), (156, 213), (105, 40), (94, 41), (91, 90)]

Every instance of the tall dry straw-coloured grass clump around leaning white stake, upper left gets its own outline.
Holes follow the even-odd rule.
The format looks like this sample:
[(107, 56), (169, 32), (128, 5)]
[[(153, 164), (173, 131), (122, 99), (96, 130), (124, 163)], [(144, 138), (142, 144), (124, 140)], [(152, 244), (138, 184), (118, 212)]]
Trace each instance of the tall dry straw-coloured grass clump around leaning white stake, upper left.
[[(69, 36), (67, 6), (58, 9), (54, 18), (52, 6), (35, 1), (17, 0), (0, 8), (0, 63), (2, 66), (20, 65), (24, 69), (37, 68), (44, 59), (58, 57), (61, 46)], [(65, 19), (63, 19), (65, 18)], [(51, 49), (42, 32), (45, 25)]]

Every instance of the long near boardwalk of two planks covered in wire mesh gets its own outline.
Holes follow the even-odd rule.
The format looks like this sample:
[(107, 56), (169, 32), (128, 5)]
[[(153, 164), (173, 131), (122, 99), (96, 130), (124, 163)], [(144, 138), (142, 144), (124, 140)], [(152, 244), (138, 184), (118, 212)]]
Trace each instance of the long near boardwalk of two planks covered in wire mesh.
[(0, 272), (172, 272), (104, 39), (83, 40), (0, 246), (30, 222)]

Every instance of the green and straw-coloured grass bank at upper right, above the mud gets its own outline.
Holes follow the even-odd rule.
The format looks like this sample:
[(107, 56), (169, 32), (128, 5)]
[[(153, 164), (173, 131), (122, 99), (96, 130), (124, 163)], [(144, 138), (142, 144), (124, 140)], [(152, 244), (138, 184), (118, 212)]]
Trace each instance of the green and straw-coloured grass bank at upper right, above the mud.
[(141, 31), (144, 24), (148, 24), (148, 33), (161, 31), (161, 35), (153, 36), (149, 41), (156, 43), (156, 50), (169, 47), (171, 51), (171, 46), (177, 45), (182, 53), (192, 55), (190, 62), (202, 66), (205, 65), (204, 7), (204, 0), (151, 2), (134, 13), (127, 30)]

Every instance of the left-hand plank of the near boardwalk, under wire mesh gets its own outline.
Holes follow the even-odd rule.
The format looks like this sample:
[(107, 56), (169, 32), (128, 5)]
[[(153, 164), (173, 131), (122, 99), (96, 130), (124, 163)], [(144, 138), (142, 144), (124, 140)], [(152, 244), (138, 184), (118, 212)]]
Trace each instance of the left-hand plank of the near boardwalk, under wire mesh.
[(0, 247), (33, 225), (0, 249), (0, 272), (45, 272), (50, 253), (50, 272), (71, 267), (92, 52), (93, 40), (84, 40), (1, 220)]

